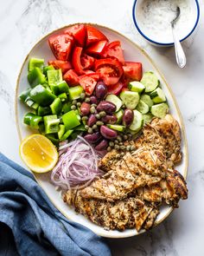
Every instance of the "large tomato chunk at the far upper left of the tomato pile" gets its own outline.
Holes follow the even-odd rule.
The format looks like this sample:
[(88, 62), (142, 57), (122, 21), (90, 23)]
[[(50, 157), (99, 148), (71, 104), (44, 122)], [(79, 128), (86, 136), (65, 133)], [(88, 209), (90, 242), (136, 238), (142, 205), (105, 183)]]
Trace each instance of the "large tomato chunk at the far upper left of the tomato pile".
[(48, 42), (56, 59), (60, 61), (68, 60), (73, 45), (73, 36), (67, 34), (50, 36)]

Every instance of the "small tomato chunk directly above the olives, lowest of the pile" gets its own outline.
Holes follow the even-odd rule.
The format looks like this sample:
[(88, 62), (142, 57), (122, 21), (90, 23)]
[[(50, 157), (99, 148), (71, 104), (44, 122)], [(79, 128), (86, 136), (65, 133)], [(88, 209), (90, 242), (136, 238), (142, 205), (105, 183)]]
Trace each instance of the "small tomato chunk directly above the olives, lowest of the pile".
[(99, 74), (92, 72), (91, 74), (81, 75), (79, 82), (83, 89), (86, 91), (86, 95), (92, 95), (92, 92), (95, 89), (98, 81)]

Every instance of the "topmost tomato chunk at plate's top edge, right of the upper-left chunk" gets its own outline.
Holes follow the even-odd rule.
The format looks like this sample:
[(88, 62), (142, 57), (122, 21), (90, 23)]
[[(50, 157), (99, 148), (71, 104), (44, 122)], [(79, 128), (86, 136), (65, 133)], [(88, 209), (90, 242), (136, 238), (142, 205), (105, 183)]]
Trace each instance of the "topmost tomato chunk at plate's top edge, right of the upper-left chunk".
[(65, 33), (73, 36), (79, 46), (84, 46), (86, 40), (86, 27), (84, 24), (73, 25), (65, 30)]

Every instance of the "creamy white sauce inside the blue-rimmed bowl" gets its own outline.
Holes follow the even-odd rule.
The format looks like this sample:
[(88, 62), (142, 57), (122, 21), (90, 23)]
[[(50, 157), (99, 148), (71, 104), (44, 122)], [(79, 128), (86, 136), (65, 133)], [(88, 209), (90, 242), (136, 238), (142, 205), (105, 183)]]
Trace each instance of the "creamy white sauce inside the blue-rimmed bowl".
[(195, 1), (190, 0), (137, 1), (136, 20), (139, 29), (152, 41), (173, 43), (170, 22), (175, 18), (177, 6), (181, 10), (175, 24), (177, 35), (180, 39), (188, 36), (197, 18)]

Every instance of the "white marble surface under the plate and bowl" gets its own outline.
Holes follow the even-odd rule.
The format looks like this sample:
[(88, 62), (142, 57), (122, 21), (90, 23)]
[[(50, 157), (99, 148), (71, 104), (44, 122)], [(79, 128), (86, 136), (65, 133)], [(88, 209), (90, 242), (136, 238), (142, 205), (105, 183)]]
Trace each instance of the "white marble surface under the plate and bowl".
[(29, 49), (41, 36), (68, 23), (92, 22), (118, 30), (145, 49), (171, 85), (186, 125), (189, 198), (152, 231), (125, 240), (108, 240), (117, 256), (204, 255), (204, 3), (194, 36), (183, 43), (188, 63), (175, 65), (174, 49), (146, 43), (134, 28), (132, 0), (0, 0), (0, 151), (18, 155), (14, 95), (16, 76)]

